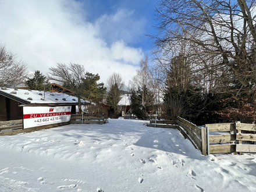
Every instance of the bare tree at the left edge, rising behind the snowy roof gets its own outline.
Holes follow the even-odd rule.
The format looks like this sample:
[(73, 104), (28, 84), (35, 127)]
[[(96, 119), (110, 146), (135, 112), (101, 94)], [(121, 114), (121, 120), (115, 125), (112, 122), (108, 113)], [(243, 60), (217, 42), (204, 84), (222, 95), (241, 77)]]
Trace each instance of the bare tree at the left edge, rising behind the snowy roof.
[(16, 55), (0, 44), (0, 87), (17, 87), (26, 78), (26, 62), (17, 60)]

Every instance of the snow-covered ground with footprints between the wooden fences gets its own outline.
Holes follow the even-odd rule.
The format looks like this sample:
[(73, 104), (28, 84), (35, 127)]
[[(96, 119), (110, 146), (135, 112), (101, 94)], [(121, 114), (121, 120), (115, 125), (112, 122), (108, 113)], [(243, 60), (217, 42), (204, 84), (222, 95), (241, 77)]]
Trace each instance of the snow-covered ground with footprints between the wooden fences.
[(0, 137), (0, 191), (256, 191), (254, 154), (204, 157), (140, 120)]

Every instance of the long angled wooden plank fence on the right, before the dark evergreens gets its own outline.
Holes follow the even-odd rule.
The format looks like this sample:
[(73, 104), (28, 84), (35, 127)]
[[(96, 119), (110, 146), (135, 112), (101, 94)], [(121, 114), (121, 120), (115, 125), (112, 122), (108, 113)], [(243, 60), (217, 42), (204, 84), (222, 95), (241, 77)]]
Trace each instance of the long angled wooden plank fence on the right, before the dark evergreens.
[(255, 124), (217, 123), (200, 128), (179, 116), (150, 116), (148, 126), (180, 130), (203, 155), (256, 152)]

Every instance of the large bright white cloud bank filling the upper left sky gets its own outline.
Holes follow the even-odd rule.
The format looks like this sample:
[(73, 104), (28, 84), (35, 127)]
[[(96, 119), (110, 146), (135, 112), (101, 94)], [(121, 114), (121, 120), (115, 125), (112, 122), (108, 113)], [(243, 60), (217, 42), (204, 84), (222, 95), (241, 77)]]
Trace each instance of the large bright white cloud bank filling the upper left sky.
[(126, 45), (130, 41), (125, 35), (129, 29), (120, 33), (125, 35), (123, 38), (119, 35), (108, 45), (102, 35), (106, 32), (102, 33), (98, 23), (102, 18), (106, 23), (120, 18), (131, 22), (132, 12), (119, 10), (93, 24), (86, 21), (81, 7), (80, 2), (64, 0), (0, 1), (0, 41), (27, 61), (32, 72), (40, 70), (45, 74), (58, 62), (72, 62), (98, 73), (101, 81), (118, 72), (128, 83), (143, 52)]

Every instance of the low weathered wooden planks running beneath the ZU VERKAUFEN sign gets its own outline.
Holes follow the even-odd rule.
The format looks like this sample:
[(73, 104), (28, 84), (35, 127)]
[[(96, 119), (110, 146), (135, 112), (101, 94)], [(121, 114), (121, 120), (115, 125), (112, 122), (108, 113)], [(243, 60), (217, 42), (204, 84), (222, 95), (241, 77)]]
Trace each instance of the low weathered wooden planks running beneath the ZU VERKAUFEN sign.
[(12, 130), (12, 131), (5, 131), (5, 132), (1, 132), (0, 136), (12, 136), (14, 134), (18, 134), (18, 133), (29, 133), (32, 131), (37, 131), (37, 130), (41, 130), (41, 129), (50, 129), (52, 127), (59, 127), (59, 126), (63, 126), (63, 125), (69, 125), (69, 122), (64, 122), (64, 123), (55, 123), (55, 124), (51, 124), (51, 125), (44, 125), (44, 126), (39, 126), (39, 127), (30, 127), (27, 129), (17, 129), (17, 130)]

